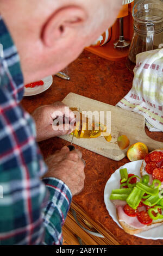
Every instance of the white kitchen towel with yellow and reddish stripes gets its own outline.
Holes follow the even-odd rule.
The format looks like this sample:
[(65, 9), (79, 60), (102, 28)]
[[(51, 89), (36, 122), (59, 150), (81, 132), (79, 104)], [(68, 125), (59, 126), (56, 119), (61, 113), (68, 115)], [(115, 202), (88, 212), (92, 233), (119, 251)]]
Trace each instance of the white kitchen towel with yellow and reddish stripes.
[(163, 132), (163, 48), (137, 54), (133, 87), (117, 106), (142, 114), (150, 131)]

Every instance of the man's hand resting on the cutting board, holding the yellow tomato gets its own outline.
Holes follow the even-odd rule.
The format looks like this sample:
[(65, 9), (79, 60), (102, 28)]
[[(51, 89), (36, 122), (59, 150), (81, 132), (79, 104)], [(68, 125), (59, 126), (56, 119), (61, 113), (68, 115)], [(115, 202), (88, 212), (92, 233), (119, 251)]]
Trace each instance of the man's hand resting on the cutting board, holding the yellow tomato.
[[(55, 102), (52, 105), (41, 106), (32, 113), (36, 124), (37, 142), (55, 136), (70, 134), (73, 131), (75, 115), (64, 103)], [(53, 125), (53, 120), (60, 120), (60, 123)], [(62, 121), (65, 121), (63, 124)], [(72, 125), (71, 125), (72, 124)]]

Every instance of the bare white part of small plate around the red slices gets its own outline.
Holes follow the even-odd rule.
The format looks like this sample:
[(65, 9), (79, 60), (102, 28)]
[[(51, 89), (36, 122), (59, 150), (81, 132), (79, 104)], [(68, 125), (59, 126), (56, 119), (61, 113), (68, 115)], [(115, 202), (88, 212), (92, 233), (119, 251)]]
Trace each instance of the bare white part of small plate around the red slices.
[(47, 76), (42, 79), (44, 82), (43, 86), (36, 86), (34, 88), (24, 88), (24, 96), (33, 96), (37, 95), (39, 93), (45, 92), (49, 87), (51, 87), (53, 83), (53, 77), (52, 76)]

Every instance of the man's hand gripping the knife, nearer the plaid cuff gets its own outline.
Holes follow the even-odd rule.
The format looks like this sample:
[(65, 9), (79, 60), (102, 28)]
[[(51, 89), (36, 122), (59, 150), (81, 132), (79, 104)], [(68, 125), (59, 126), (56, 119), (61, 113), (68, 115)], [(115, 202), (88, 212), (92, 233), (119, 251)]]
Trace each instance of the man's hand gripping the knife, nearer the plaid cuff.
[(63, 147), (56, 151), (54, 155), (46, 159), (48, 172), (43, 178), (53, 177), (65, 182), (70, 188), (72, 196), (80, 193), (84, 187), (84, 167), (82, 153), (79, 150), (69, 151), (68, 147)]

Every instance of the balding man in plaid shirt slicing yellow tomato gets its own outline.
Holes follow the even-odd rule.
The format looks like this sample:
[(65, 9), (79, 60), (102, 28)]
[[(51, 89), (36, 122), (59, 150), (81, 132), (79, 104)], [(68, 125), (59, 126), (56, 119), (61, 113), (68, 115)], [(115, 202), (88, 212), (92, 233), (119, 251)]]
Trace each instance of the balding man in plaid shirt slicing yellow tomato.
[[(122, 0), (0, 0), (2, 245), (62, 243), (72, 196), (84, 186), (82, 154), (64, 147), (43, 161), (36, 141), (72, 127), (52, 129), (55, 113), (64, 115), (60, 102), (30, 117), (20, 105), (23, 84), (65, 68), (112, 25), (121, 5)], [(74, 119), (71, 111), (68, 118)]]

